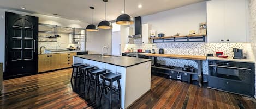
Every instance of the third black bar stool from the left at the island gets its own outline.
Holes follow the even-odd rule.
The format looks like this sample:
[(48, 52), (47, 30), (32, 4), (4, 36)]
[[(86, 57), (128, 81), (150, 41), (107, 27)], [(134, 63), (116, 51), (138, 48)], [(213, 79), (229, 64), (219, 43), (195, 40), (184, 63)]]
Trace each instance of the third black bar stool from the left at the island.
[[(103, 73), (106, 73), (106, 70), (96, 68), (96, 69), (88, 70), (88, 73), (90, 74), (90, 78), (89, 78), (87, 93), (89, 93), (90, 88), (93, 88), (94, 89), (93, 100), (95, 100), (96, 99), (97, 86), (100, 87), (99, 75), (103, 74)], [(93, 76), (95, 76), (94, 80), (92, 80)], [(91, 87), (91, 82), (94, 82), (94, 87)]]

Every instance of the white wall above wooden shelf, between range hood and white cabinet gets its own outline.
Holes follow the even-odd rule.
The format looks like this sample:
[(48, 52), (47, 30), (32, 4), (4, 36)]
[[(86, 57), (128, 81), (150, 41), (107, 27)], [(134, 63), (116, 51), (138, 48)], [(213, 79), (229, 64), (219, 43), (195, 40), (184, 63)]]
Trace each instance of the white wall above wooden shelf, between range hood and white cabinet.
[(199, 23), (206, 22), (206, 2), (187, 5), (184, 7), (142, 16), (142, 24), (152, 25), (152, 29), (165, 36), (176, 33), (188, 35), (190, 30), (198, 33)]

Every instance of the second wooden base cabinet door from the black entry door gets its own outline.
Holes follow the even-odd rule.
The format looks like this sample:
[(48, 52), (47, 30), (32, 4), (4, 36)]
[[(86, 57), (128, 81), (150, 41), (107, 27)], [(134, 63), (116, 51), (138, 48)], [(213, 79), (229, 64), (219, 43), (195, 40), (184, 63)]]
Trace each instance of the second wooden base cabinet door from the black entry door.
[(59, 54), (51, 54), (51, 70), (59, 69), (60, 68), (60, 55)]

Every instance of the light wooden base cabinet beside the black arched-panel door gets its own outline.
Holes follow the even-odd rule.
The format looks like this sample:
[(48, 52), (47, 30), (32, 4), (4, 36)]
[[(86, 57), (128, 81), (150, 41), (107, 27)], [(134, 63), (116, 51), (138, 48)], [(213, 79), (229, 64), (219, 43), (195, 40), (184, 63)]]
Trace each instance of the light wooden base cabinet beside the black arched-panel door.
[(75, 55), (76, 52), (38, 55), (38, 72), (71, 67)]

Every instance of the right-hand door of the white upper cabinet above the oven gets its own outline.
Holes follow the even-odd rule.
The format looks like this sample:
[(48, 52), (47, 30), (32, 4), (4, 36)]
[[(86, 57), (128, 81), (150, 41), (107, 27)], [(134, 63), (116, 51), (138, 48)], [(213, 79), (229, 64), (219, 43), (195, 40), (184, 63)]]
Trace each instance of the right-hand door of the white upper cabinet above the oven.
[(246, 42), (246, 0), (225, 0), (225, 41)]

